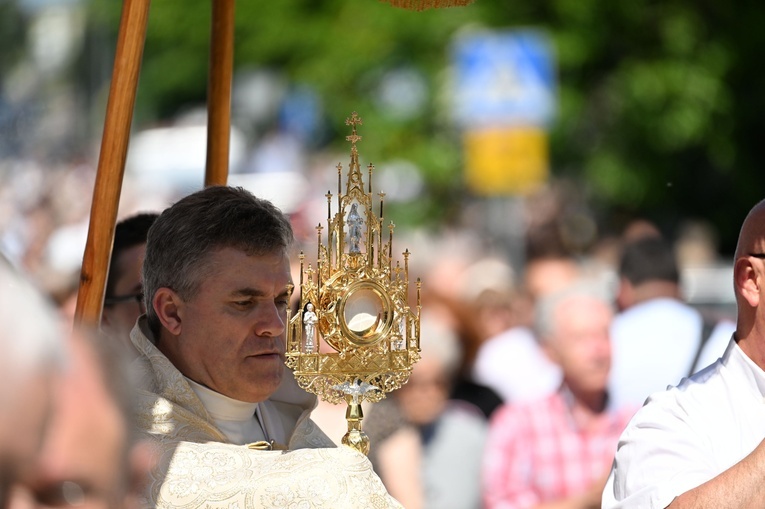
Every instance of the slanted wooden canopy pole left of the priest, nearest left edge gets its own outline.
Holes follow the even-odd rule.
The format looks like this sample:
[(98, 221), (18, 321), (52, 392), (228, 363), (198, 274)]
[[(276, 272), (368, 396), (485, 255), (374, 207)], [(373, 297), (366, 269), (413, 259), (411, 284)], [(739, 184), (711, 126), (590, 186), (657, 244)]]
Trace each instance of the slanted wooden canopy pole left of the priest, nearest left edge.
[(98, 172), (90, 207), (90, 226), (80, 272), (76, 325), (97, 327), (114, 242), (130, 125), (133, 121), (150, 0), (124, 0), (112, 83), (106, 106)]

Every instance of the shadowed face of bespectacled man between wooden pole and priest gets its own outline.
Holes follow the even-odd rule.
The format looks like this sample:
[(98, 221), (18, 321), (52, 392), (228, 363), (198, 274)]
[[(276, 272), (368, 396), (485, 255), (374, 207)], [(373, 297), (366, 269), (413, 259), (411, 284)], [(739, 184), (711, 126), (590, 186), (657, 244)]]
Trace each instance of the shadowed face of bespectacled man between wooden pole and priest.
[[(116, 267), (119, 277), (115, 280), (112, 295), (106, 296), (102, 315), (102, 326), (109, 334), (120, 340), (130, 342), (130, 331), (135, 325), (136, 319), (143, 314), (143, 304), (136, 297), (142, 292), (141, 267), (146, 256), (146, 244), (130, 247), (117, 257)], [(108, 299), (116, 297), (116, 301), (109, 304)], [(124, 297), (124, 299), (122, 299)]]

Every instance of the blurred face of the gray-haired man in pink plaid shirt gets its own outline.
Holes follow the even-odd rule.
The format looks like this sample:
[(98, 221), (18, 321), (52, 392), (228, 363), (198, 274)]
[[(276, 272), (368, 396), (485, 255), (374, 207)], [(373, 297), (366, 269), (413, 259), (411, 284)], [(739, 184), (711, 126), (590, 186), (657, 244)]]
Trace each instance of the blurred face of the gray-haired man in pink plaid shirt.
[(606, 389), (611, 369), (611, 318), (605, 303), (589, 297), (573, 297), (558, 306), (557, 327), (547, 348), (572, 389)]

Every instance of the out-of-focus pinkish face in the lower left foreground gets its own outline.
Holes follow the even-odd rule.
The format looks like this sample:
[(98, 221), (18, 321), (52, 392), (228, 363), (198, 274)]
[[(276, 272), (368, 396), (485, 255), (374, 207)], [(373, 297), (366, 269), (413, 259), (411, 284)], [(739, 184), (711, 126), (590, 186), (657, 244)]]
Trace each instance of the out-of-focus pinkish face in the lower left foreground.
[(43, 449), (14, 487), (10, 508), (116, 507), (126, 484), (127, 427), (81, 340), (72, 342), (72, 365), (54, 397)]

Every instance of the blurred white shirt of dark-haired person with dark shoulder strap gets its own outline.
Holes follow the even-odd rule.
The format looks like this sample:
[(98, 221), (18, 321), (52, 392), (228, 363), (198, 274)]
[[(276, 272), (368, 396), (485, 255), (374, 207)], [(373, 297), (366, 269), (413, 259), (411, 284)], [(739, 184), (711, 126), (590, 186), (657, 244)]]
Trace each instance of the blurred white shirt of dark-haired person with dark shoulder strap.
[[(677, 299), (651, 299), (618, 314), (611, 325), (608, 393), (615, 408), (639, 407), (657, 391), (688, 376), (701, 341), (701, 313)], [(696, 370), (717, 360), (736, 326), (720, 321)]]

